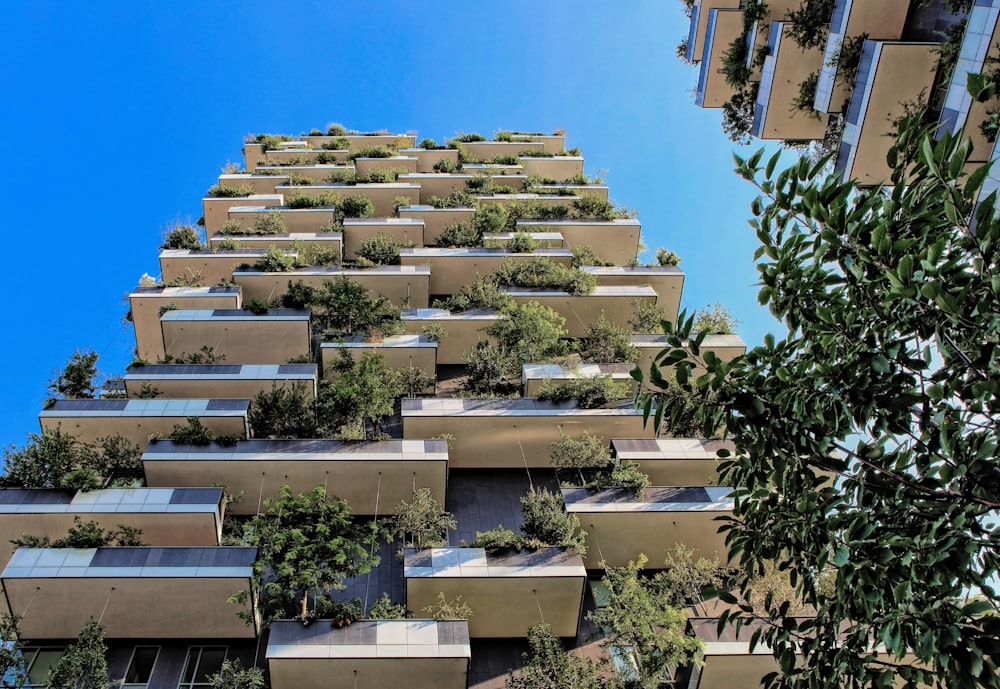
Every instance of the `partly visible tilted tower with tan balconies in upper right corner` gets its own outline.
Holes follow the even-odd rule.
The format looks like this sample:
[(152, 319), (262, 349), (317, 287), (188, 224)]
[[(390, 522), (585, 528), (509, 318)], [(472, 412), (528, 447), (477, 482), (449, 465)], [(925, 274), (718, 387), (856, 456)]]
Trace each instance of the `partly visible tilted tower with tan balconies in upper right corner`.
[(901, 117), (926, 107), (963, 129), (973, 162), (993, 157), (1000, 100), (972, 99), (969, 74), (997, 81), (997, 0), (687, 0), (695, 103), (723, 128), (834, 154), (845, 179), (878, 184)]

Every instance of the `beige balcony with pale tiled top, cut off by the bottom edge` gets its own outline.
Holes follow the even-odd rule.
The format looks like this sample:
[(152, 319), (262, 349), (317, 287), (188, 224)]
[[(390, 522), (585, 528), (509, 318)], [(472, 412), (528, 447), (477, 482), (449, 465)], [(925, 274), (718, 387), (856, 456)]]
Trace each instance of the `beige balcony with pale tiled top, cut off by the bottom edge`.
[(342, 628), (278, 620), (267, 641), (273, 689), (465, 689), (471, 657), (465, 620), (363, 620)]

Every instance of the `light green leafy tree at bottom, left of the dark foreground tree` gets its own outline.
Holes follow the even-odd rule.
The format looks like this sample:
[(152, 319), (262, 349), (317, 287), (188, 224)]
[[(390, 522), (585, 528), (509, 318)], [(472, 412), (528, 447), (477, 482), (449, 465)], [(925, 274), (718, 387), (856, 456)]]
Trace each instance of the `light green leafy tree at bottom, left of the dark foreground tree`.
[(601, 581), (608, 589), (607, 605), (587, 613), (604, 630), (605, 646), (628, 648), (633, 672), (629, 685), (658, 689), (671, 668), (692, 662), (703, 642), (684, 633), (686, 617), (661, 595), (657, 580), (642, 576), (646, 556), (605, 570)]

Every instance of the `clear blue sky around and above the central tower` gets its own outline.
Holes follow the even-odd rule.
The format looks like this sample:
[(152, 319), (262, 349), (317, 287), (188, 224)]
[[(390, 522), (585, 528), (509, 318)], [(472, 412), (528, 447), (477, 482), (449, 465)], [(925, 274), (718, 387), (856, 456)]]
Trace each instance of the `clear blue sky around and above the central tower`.
[(248, 132), (565, 127), (646, 243), (682, 256), (683, 306), (728, 304), (750, 345), (775, 328), (752, 287), (753, 189), (674, 57), (677, 0), (34, 0), (5, 19), (0, 443), (38, 430), (76, 348), (123, 371), (123, 296)]

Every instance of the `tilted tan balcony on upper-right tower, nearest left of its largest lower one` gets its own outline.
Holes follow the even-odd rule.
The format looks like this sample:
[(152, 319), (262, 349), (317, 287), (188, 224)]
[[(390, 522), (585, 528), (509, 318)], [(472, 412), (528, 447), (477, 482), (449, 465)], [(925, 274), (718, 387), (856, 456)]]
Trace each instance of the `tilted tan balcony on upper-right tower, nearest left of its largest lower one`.
[(800, 84), (823, 66), (823, 51), (803, 50), (785, 35), (788, 22), (771, 22), (767, 59), (757, 91), (753, 126), (758, 139), (807, 140), (826, 135), (826, 118), (796, 107)]

